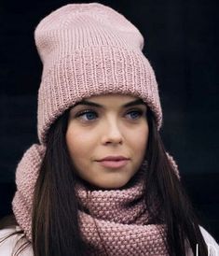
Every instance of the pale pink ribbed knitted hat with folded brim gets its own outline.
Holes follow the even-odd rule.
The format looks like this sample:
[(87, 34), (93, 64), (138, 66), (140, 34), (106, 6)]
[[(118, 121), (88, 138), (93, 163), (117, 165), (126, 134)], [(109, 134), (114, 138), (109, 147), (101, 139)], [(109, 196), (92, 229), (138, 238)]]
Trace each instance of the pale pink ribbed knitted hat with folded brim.
[(142, 98), (160, 128), (157, 81), (142, 52), (144, 37), (123, 15), (97, 3), (67, 5), (40, 21), (34, 38), (43, 62), (37, 115), (41, 143), (65, 109), (104, 93)]

